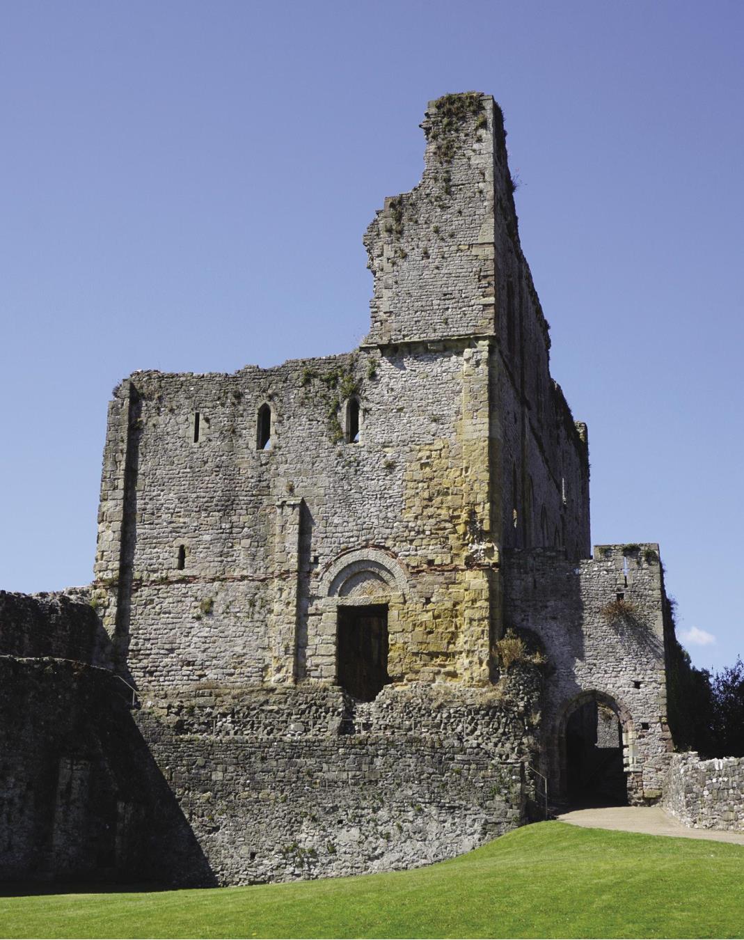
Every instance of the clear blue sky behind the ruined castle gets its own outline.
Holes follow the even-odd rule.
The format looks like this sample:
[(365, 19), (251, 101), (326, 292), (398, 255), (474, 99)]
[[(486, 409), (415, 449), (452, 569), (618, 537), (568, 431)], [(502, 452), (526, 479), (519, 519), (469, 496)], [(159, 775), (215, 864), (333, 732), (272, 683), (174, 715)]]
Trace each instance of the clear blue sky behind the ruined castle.
[[(593, 540), (659, 541), (693, 661), (744, 654), (744, 5), (0, 4), (0, 587), (90, 580), (112, 387), (364, 336), (364, 228), (426, 101), (504, 108)], [(710, 640), (707, 637), (712, 637)]]

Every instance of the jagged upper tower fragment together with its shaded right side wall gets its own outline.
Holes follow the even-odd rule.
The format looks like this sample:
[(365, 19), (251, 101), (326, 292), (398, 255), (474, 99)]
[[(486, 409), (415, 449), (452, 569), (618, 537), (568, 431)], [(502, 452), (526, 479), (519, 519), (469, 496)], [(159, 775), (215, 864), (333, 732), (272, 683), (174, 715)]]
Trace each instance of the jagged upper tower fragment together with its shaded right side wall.
[(586, 556), (586, 432), (550, 378), (549, 328), (519, 243), (501, 109), (488, 95), (445, 95), (428, 102), (422, 127), (421, 182), (386, 198), (364, 237), (374, 293), (363, 348), (492, 337), (491, 474), (503, 543)]

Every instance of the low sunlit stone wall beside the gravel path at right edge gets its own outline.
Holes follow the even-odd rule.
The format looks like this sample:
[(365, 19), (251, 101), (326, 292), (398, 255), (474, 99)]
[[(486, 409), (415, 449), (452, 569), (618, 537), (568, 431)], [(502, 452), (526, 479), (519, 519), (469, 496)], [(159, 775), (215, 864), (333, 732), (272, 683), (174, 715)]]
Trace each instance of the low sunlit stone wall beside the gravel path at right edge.
[(744, 830), (744, 758), (674, 754), (661, 805), (686, 825)]

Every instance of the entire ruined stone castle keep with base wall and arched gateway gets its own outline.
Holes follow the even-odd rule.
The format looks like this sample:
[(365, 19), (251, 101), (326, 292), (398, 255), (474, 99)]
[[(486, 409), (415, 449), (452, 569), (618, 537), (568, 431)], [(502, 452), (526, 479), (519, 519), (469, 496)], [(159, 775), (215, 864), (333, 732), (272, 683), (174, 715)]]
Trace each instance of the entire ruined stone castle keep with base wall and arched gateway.
[[(389, 869), (464, 851), (546, 798), (659, 796), (658, 546), (592, 556), (587, 431), (550, 377), (500, 108), (446, 95), (422, 127), (421, 182), (364, 236), (359, 349), (116, 388), (102, 629), (73, 658), (132, 689), (132, 715), (110, 719), (127, 769), (100, 718), (85, 773), (48, 742), (69, 782), (54, 825), (65, 793), (95, 791), (113, 871)], [(31, 601), (6, 603), (20, 622)], [(60, 839), (23, 858), (54, 870)]]

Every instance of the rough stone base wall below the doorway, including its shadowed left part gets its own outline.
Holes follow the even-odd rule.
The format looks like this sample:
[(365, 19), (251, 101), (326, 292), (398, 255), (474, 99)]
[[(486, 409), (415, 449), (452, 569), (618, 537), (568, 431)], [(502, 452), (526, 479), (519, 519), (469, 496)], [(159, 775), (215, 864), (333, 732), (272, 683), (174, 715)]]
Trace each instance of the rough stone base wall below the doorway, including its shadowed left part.
[(409, 868), (523, 823), (541, 682), (161, 690), (0, 657), (0, 881), (247, 884)]

